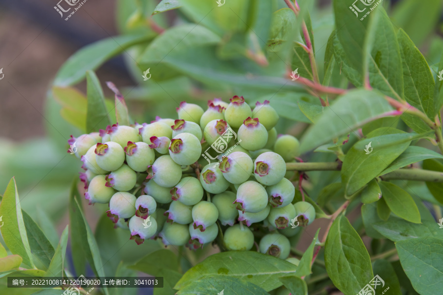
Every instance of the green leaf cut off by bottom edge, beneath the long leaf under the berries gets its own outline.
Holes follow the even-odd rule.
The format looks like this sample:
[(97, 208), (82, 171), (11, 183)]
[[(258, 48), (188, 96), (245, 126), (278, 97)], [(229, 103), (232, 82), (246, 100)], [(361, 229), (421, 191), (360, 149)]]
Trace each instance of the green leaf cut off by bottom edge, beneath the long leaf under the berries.
[(212, 295), (223, 291), (226, 295), (269, 295), (253, 283), (233, 277), (209, 275), (196, 280), (177, 292), (177, 295)]

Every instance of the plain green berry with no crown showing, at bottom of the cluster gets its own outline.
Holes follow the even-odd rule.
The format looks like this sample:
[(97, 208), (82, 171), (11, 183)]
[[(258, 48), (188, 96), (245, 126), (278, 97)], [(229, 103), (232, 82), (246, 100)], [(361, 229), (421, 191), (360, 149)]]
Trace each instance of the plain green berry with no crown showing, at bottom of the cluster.
[(248, 227), (236, 224), (224, 232), (223, 242), (230, 251), (248, 251), (254, 245), (254, 235)]

